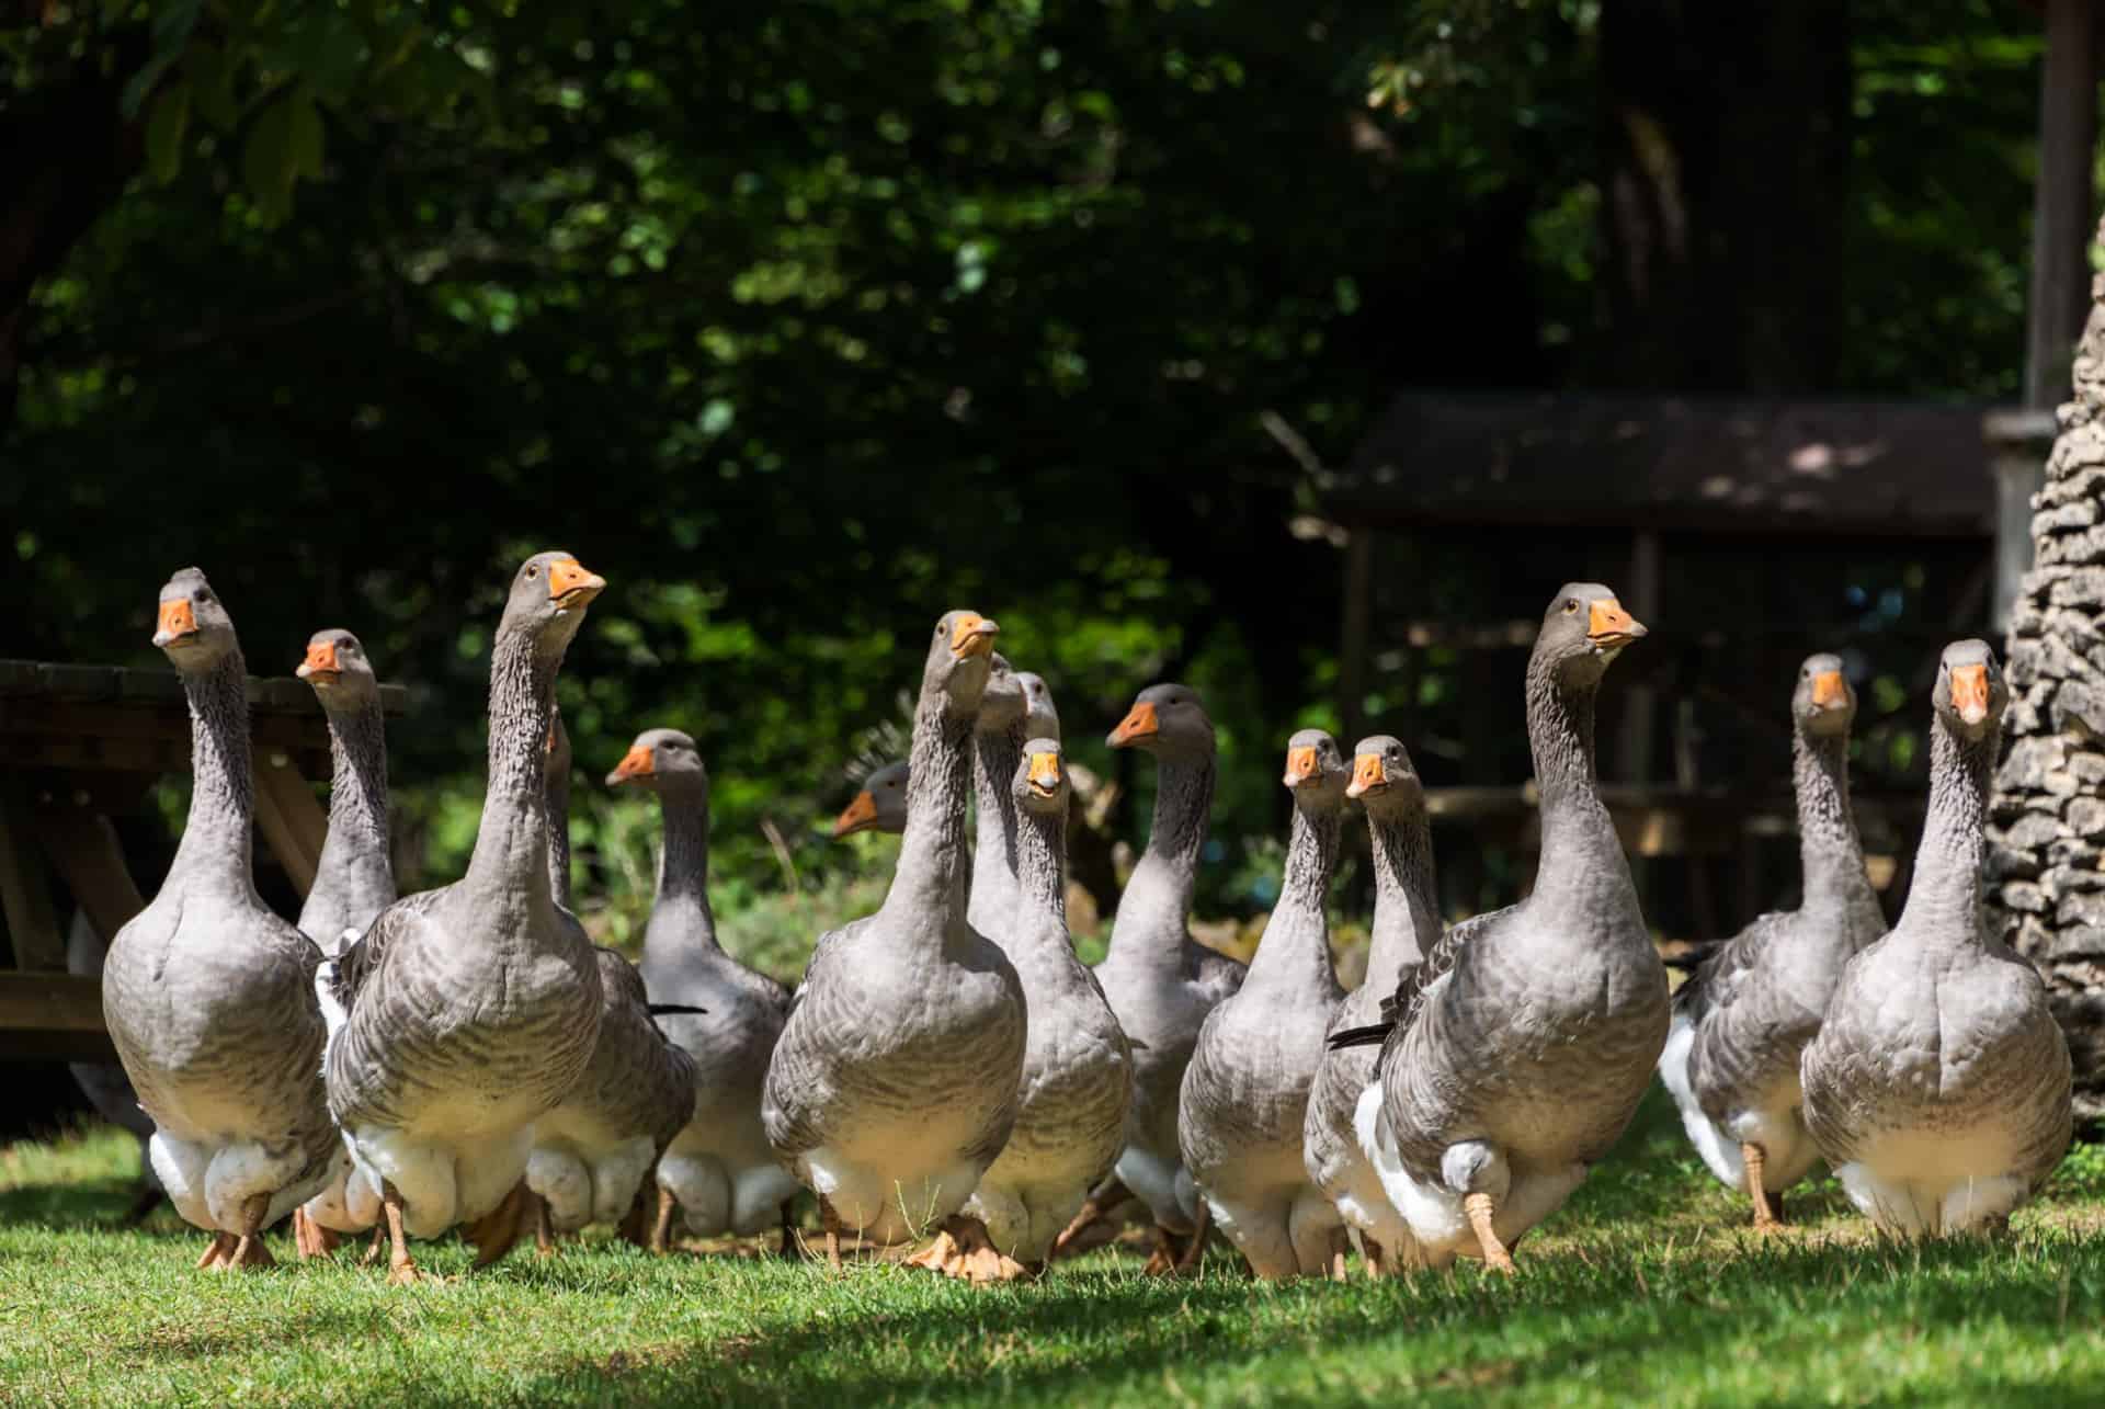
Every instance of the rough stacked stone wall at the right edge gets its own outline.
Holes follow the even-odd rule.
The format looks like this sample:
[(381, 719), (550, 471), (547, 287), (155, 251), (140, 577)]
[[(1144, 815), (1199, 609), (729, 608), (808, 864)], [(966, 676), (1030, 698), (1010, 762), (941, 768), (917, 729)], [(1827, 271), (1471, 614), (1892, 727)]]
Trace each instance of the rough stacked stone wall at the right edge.
[(2105, 1118), (2105, 276), (2076, 398), (2031, 499), (2033, 567), (2010, 613), (2010, 752), (1996, 773), (1989, 904), (2046, 975), (2076, 1110)]

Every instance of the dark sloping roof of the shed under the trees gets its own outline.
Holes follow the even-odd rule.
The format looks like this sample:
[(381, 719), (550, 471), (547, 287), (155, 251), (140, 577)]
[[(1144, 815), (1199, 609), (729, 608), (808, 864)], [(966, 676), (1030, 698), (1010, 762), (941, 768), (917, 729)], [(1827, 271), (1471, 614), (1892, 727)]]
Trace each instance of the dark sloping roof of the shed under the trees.
[(1326, 489), (1354, 527), (1991, 537), (1987, 406), (1398, 396)]

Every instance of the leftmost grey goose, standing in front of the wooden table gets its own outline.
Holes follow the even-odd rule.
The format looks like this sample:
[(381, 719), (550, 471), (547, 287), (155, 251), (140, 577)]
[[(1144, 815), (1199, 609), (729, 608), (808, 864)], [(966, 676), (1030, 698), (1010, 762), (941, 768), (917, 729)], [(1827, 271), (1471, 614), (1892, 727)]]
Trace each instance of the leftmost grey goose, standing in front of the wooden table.
[(154, 644), (189, 699), (189, 821), (154, 899), (109, 941), (103, 1021), (154, 1120), (168, 1200), (213, 1234), (200, 1268), (265, 1268), (263, 1228), (328, 1177), (320, 950), (255, 889), (248, 670), (204, 573), (160, 590)]

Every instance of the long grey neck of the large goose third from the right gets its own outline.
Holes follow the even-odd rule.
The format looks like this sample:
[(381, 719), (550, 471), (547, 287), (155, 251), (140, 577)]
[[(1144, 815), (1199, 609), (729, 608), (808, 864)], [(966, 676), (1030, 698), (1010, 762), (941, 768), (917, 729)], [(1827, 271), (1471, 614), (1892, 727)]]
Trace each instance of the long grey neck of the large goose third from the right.
[(1541, 653), (1528, 659), (1528, 748), (1543, 798), (1532, 897), (1551, 906), (1600, 897), (1617, 885), (1629, 891), (1629, 864), (1593, 781), (1596, 689), (1598, 680), (1564, 680)]

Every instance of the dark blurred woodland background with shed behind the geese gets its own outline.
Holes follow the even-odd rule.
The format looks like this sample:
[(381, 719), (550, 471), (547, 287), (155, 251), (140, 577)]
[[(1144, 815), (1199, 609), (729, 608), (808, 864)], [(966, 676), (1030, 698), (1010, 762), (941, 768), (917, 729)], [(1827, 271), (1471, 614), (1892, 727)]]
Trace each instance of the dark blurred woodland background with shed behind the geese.
[[(1410, 746), (1450, 914), (1520, 893), (1520, 666), (1602, 579), (1652, 628), (1600, 729), (1661, 939), (1793, 899), (1815, 649), (1892, 899), (1937, 647), (1996, 634), (2067, 396), (2088, 11), (13, 0), (0, 657), (164, 668), (183, 564), (253, 674), (358, 632), (410, 889), (474, 838), (501, 592), (568, 548), (587, 922), (640, 931), (655, 813), (600, 777), (676, 725), (720, 925), (794, 975), (882, 897), (827, 821), (947, 607), (1055, 689), (1088, 954), (1154, 786), (1103, 735), (1204, 695), (1198, 910), (1246, 952), (1297, 727)], [(147, 893), (185, 788), (118, 817)]]

